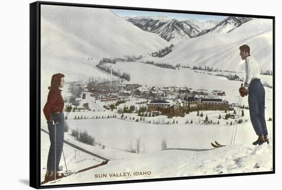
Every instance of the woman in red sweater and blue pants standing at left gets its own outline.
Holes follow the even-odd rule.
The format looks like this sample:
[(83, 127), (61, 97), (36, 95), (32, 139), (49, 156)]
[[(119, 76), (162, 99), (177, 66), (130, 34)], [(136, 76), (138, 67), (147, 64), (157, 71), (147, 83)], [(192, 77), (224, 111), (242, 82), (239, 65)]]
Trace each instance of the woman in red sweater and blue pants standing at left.
[(59, 89), (64, 87), (64, 77), (65, 75), (61, 73), (52, 76), (51, 86), (48, 87), (49, 93), (47, 102), (43, 109), (47, 119), (50, 137), (50, 149), (45, 182), (59, 179), (64, 176), (63, 174), (59, 175), (57, 172), (64, 145), (64, 99), (62, 97), (62, 90)]

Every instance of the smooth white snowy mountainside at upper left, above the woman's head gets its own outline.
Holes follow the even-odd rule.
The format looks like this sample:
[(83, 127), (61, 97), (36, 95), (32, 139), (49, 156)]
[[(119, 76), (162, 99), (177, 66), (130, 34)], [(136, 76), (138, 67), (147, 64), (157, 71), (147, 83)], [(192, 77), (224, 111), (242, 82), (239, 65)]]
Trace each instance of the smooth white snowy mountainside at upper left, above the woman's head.
[(169, 43), (165, 39), (140, 30), (108, 9), (51, 5), (41, 9), (45, 86), (52, 74), (58, 72), (72, 80), (107, 78), (107, 74), (93, 68), (103, 57), (141, 55), (166, 46)]

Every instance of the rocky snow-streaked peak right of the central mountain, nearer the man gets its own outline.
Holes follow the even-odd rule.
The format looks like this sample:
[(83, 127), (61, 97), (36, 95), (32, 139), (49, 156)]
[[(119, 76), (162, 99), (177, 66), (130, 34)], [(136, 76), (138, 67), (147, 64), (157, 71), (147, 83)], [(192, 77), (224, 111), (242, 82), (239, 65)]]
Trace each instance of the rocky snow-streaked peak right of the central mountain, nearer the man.
[(227, 33), (230, 32), (231, 30), (241, 26), (241, 24), (246, 23), (250, 21), (252, 18), (247, 18), (247, 17), (235, 17), (235, 16), (230, 16), (221, 22), (219, 22), (216, 26), (210, 29), (206, 29), (202, 32), (200, 32), (197, 36), (201, 36), (207, 33)]

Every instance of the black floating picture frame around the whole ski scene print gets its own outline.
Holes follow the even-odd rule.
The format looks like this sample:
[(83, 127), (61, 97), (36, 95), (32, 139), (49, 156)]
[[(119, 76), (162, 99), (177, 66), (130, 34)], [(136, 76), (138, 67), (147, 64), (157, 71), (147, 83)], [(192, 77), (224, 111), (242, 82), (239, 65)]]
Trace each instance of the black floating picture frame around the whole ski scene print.
[[(273, 171), (270, 172), (252, 172), (239, 174), (219, 174), (205, 176), (189, 176), (189, 177), (173, 177), (173, 178), (158, 178), (158, 179), (143, 179), (143, 180), (128, 180), (128, 181), (110, 181), (110, 182), (92, 182), (92, 183), (76, 183), (64, 185), (41, 185), (41, 5), (55, 6), (72, 6), (72, 7), (89, 7), (89, 8), (105, 8), (105, 9), (123, 9), (123, 10), (139, 10), (139, 11), (161, 11), (173, 13), (189, 13), (189, 14), (205, 14), (218, 16), (239, 16), (252, 18), (267, 18), (273, 21)], [(142, 7), (120, 7), (106, 5), (90, 5), (76, 3), (59, 3), (59, 2), (34, 2), (30, 4), (30, 186), (34, 188), (55, 188), (55, 187), (74, 187), (88, 185), (104, 185), (118, 183), (136, 183), (136, 182), (151, 182), (151, 181), (166, 181), (166, 180), (183, 180), (183, 179), (198, 179), (198, 178), (215, 178), (215, 177), (230, 177), (230, 176), (246, 176), (246, 175), (261, 175), (275, 174), (275, 16), (264, 15), (248, 15), (234, 13), (217, 13), (217, 12), (198, 12), (187, 10), (170, 10), (170, 9), (153, 9)]]

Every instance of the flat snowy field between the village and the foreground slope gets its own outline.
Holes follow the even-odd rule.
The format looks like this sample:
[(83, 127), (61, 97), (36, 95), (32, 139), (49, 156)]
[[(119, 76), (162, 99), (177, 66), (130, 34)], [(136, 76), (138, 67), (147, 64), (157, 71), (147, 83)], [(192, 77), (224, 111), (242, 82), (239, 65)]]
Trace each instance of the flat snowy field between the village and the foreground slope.
[[(218, 140), (230, 144), (233, 125), (197, 125), (197, 124), (152, 124), (128, 121), (116, 118), (110, 119), (79, 119), (67, 120), (70, 129), (87, 131), (97, 142), (121, 150), (135, 146), (140, 139), (142, 152), (161, 150), (162, 140), (167, 147), (186, 149), (207, 149), (210, 142)], [(272, 122), (268, 121), (270, 136)], [(238, 124), (236, 143), (251, 143), (256, 139), (250, 122)], [(130, 151), (130, 150), (128, 150)]]

